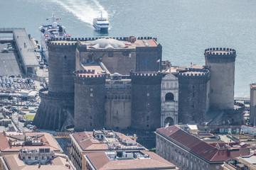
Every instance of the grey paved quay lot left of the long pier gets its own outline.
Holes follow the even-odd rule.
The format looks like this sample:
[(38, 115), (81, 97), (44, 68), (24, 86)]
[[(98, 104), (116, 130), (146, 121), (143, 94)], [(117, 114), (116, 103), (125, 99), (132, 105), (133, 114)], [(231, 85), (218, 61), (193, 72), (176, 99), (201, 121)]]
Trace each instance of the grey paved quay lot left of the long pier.
[(21, 64), (18, 62), (16, 52), (14, 50), (7, 50), (7, 52), (3, 51), (4, 49), (8, 49), (7, 44), (9, 43), (0, 43), (0, 73), (6, 76), (21, 75)]

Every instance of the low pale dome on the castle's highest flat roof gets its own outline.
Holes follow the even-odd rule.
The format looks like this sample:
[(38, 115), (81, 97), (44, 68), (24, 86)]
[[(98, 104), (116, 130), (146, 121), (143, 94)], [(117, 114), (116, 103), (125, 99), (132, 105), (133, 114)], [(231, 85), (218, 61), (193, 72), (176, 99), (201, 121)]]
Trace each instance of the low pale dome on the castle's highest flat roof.
[(112, 38), (101, 38), (87, 43), (90, 48), (116, 48), (124, 47), (124, 43)]

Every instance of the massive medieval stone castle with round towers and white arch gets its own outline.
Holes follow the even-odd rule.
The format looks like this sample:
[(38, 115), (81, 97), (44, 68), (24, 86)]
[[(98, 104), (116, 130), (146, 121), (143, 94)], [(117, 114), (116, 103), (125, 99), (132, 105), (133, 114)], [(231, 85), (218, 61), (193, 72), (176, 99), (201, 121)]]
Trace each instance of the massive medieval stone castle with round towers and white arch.
[(206, 66), (162, 62), (156, 38), (70, 38), (48, 42), (49, 84), (41, 89), (38, 128), (156, 130), (166, 123), (240, 125), (236, 52), (206, 49)]

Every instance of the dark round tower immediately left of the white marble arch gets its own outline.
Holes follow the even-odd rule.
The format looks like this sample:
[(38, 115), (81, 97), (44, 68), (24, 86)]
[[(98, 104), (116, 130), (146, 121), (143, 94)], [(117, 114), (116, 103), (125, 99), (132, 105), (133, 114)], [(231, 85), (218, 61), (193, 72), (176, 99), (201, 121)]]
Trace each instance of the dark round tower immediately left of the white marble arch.
[(161, 78), (159, 72), (131, 72), (132, 128), (156, 130), (161, 123)]

